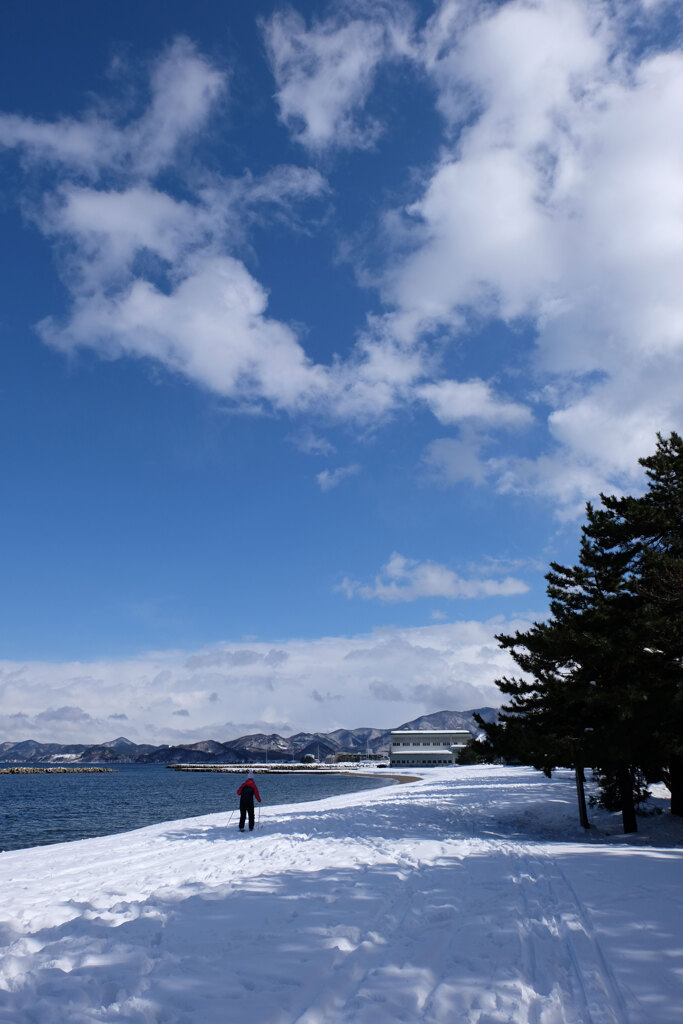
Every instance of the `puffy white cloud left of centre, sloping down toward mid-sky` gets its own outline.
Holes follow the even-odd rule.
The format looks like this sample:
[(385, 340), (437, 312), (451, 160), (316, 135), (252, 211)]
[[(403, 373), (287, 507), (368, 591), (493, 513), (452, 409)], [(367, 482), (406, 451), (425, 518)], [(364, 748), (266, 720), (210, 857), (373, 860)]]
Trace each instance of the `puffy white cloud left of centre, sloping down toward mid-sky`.
[(73, 247), (65, 264), (70, 314), (38, 325), (53, 347), (155, 359), (242, 413), (263, 412), (265, 401), (290, 414), (373, 423), (414, 400), (428, 370), (424, 353), (382, 329), (364, 334), (346, 360), (308, 358), (295, 329), (267, 315), (265, 288), (221, 252), (231, 209), (212, 197), (190, 204), (136, 185), (66, 187), (61, 198), (42, 222)]

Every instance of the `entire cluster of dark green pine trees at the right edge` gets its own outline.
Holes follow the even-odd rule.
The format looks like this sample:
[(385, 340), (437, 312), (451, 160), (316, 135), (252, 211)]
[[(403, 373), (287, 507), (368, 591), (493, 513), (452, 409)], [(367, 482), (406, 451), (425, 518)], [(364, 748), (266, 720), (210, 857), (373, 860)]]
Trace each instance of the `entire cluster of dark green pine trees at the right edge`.
[(579, 563), (551, 563), (550, 618), (497, 639), (525, 674), (486, 732), (489, 755), (550, 775), (591, 765), (601, 799), (636, 829), (641, 779), (683, 814), (683, 440), (658, 436), (640, 498), (587, 506)]

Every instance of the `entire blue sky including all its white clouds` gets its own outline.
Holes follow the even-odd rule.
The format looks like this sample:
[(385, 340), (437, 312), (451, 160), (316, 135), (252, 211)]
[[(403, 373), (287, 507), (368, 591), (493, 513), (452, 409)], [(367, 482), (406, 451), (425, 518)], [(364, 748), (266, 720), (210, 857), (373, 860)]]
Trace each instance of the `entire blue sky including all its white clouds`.
[(495, 701), (681, 429), (678, 5), (3, 17), (1, 738)]

